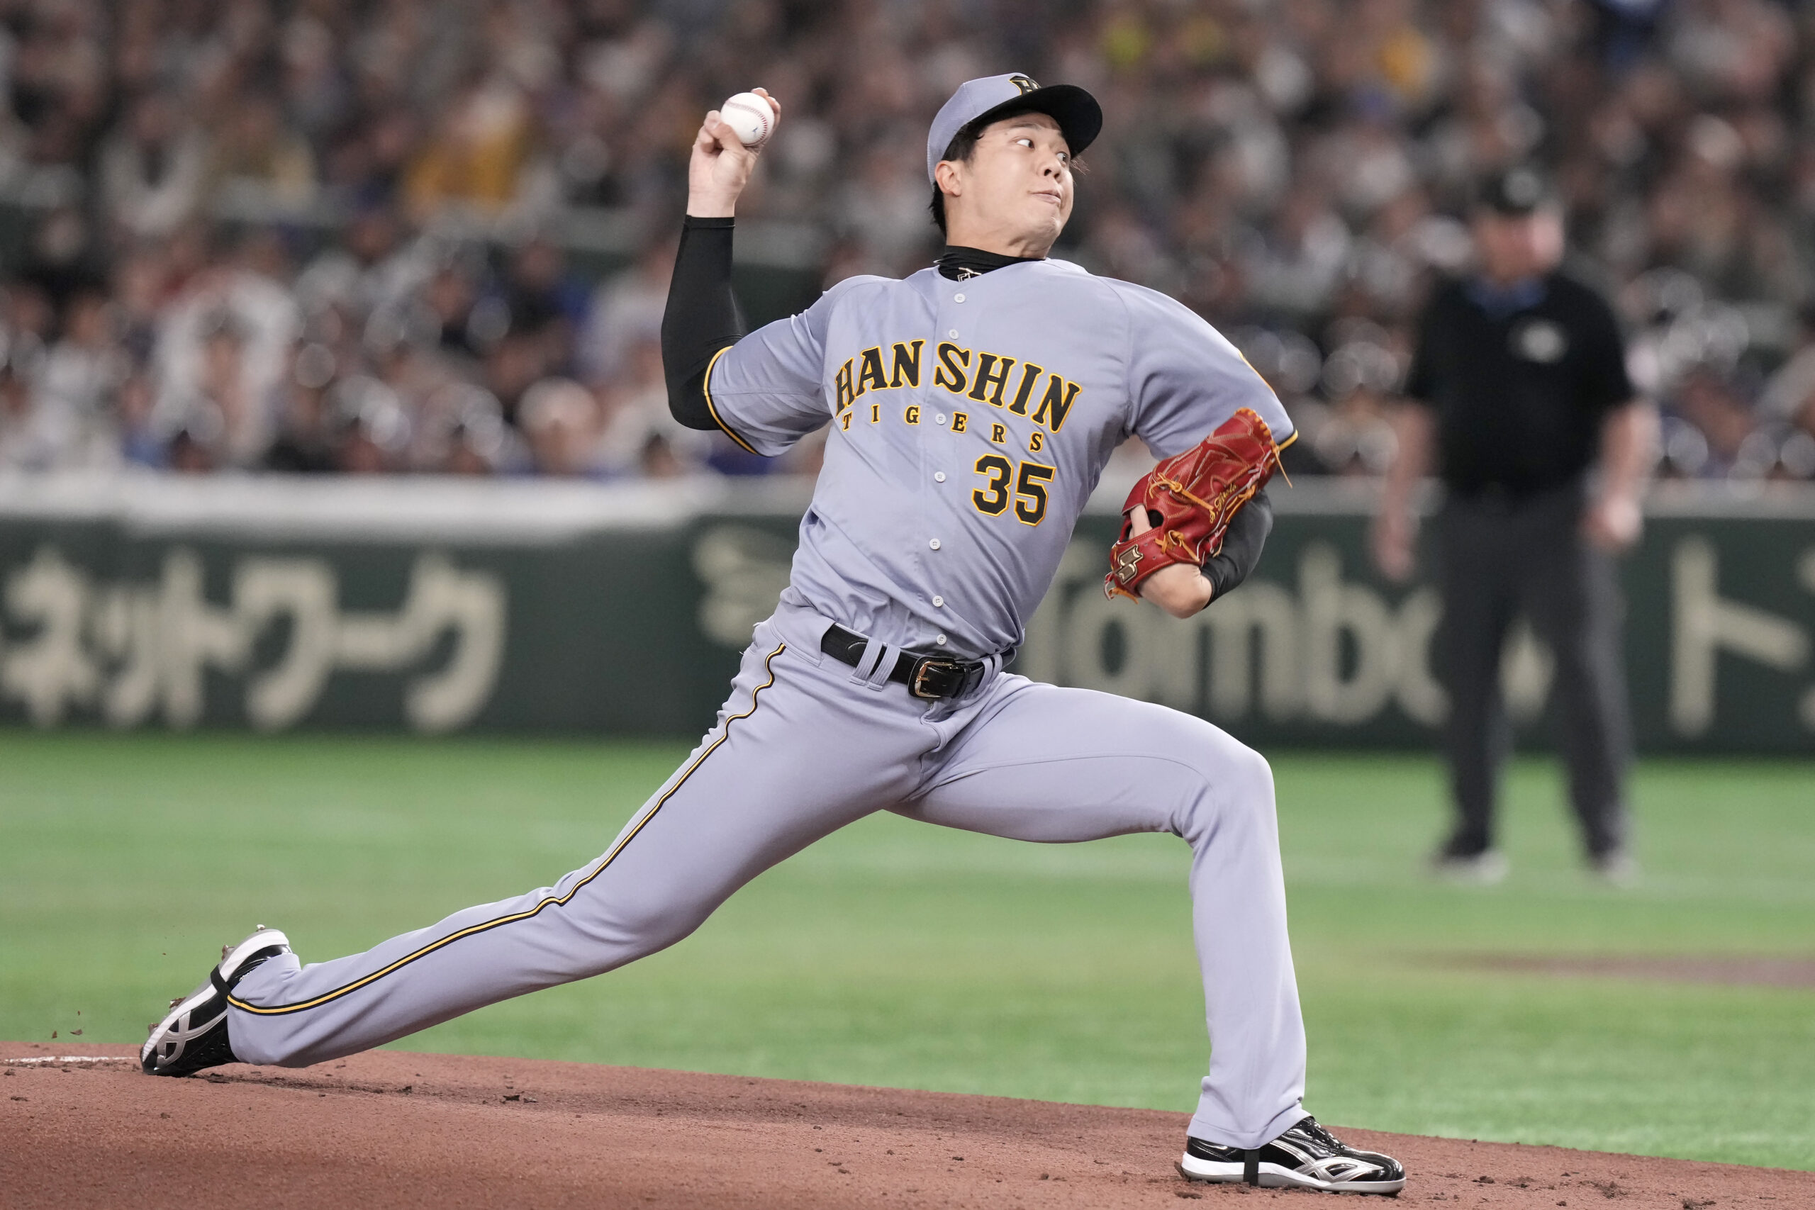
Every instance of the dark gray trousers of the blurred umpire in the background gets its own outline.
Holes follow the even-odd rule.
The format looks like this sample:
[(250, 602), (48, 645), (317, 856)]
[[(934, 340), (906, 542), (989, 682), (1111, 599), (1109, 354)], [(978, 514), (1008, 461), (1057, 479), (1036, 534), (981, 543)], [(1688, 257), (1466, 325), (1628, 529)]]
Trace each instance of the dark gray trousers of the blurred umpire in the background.
[(1581, 537), (1581, 484), (1532, 497), (1452, 497), (1439, 522), (1443, 628), (1450, 695), (1448, 760), (1456, 834), (1448, 853), (1494, 844), (1494, 796), (1512, 731), (1499, 668), (1523, 611), (1555, 660), (1552, 715), (1568, 762), (1570, 804), (1590, 856), (1626, 840), (1624, 775), (1632, 740), (1614, 561)]

